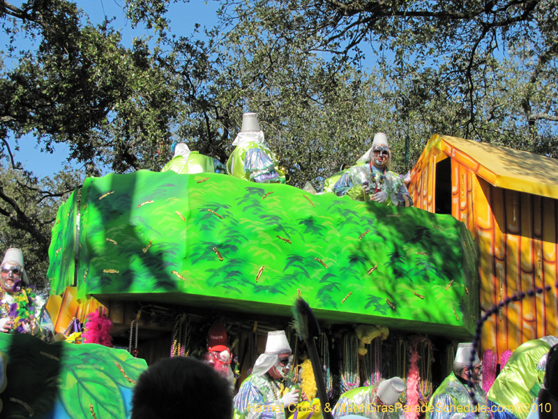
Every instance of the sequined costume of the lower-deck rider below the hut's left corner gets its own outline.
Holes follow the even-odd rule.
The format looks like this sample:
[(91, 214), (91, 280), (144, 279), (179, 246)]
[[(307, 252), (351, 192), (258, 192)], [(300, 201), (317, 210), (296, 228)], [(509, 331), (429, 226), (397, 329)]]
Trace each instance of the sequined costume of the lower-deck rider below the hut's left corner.
[[(488, 407), (486, 406), (486, 393), (481, 385), (474, 386), (476, 400), (478, 401), (478, 419), (488, 418)], [(442, 384), (432, 395), (428, 402), (425, 419), (474, 419), (473, 401), (469, 396), (467, 385), (462, 383), (456, 376), (449, 374)]]

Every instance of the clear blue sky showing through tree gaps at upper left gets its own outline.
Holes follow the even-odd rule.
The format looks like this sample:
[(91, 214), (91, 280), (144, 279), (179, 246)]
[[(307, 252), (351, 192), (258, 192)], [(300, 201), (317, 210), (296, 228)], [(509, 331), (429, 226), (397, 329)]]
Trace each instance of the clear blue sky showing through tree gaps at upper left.
[[(137, 36), (146, 35), (147, 31), (143, 28), (132, 29), (130, 21), (126, 19), (123, 10), (123, 0), (77, 0), (77, 6), (82, 8), (89, 20), (93, 24), (103, 22), (105, 15), (109, 18), (114, 17), (112, 26), (119, 29), (122, 35), (122, 43), (131, 46), (132, 41)], [(10, 1), (14, 6), (20, 6), (23, 1)], [(170, 33), (176, 35), (190, 35), (194, 25), (199, 23), (202, 27), (212, 27), (216, 24), (216, 10), (220, 6), (218, 1), (198, 1), (193, 0), (190, 3), (173, 3), (169, 6), (167, 16), (171, 17)], [(6, 34), (0, 33), (0, 50), (5, 48), (7, 43)], [(6, 66), (10, 65), (8, 59), (4, 60)], [(15, 140), (10, 139), (10, 146), (14, 147)], [(20, 150), (12, 149), (16, 161), (21, 161), (24, 168), (32, 170), (38, 177), (54, 175), (68, 164), (69, 147), (65, 144), (56, 145), (54, 153), (45, 153), (40, 151), (36, 138), (33, 135), (25, 135), (19, 140)], [(73, 164), (75, 168), (79, 168)]]

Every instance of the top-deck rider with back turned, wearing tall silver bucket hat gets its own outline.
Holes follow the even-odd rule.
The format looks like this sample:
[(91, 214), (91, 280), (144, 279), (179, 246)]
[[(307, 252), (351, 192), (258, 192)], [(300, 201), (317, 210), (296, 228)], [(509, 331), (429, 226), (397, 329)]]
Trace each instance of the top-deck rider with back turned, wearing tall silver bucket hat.
[(241, 131), (232, 145), (236, 148), (227, 161), (229, 175), (257, 183), (285, 183), (285, 174), (266, 145), (255, 113), (242, 115)]

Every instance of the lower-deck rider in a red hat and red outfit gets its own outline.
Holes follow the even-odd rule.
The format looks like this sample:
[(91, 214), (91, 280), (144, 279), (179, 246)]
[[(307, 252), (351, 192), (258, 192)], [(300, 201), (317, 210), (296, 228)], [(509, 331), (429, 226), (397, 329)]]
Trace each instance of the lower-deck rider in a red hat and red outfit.
[(207, 332), (207, 353), (204, 362), (211, 365), (229, 381), (231, 390), (234, 389), (234, 373), (232, 372), (232, 352), (227, 341), (227, 329), (222, 321), (216, 320)]

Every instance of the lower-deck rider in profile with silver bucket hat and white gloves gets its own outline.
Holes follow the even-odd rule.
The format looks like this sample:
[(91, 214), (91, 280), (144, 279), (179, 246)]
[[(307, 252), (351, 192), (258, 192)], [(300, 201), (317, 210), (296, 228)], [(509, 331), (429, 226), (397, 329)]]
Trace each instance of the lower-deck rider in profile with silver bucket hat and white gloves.
[[(299, 390), (285, 390), (282, 384), (292, 360), (285, 332), (269, 332), (266, 351), (259, 355), (252, 374), (234, 397), (234, 419), (284, 419), (285, 410), (299, 402)], [(291, 408), (292, 411), (292, 408)]]

